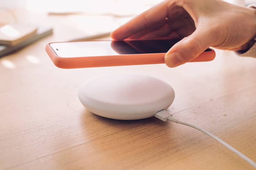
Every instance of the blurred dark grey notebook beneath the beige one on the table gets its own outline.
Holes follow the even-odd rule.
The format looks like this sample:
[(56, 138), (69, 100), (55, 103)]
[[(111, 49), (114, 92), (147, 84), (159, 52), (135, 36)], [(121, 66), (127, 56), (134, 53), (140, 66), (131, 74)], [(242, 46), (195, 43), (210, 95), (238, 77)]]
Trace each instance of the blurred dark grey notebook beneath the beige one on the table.
[(16, 46), (5, 46), (5, 45), (0, 45), (0, 57), (4, 55), (11, 54), (15, 51), (20, 50), (21, 48), (24, 48), (28, 46), (29, 44), (32, 44), (35, 41), (38, 41), (48, 35), (52, 34), (52, 28), (49, 27), (38, 27), (36, 34), (31, 36), (28, 40), (16, 45)]

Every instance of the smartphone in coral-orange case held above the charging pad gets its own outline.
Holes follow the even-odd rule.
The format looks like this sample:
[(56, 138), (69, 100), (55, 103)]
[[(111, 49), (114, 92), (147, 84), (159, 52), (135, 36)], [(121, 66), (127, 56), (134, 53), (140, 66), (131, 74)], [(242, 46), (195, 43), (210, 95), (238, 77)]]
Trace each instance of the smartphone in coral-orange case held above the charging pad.
[[(46, 52), (59, 68), (87, 68), (164, 63), (165, 53), (179, 40), (53, 42)], [(189, 55), (189, 54), (188, 54)], [(212, 61), (208, 48), (190, 62)]]

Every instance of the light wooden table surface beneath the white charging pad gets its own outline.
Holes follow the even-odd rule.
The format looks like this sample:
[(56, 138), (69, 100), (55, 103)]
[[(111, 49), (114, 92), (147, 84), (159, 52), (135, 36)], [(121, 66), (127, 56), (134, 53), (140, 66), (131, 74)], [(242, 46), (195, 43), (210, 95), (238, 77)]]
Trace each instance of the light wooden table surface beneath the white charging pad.
[(173, 116), (209, 130), (256, 161), (256, 59), (216, 50), (212, 62), (178, 68), (64, 70), (53, 65), (44, 47), (73, 32), (52, 25), (53, 36), (0, 58), (1, 170), (253, 169), (196, 129), (155, 117), (119, 121), (94, 115), (81, 105), (77, 90), (103, 74), (160, 78), (176, 93), (168, 109)]

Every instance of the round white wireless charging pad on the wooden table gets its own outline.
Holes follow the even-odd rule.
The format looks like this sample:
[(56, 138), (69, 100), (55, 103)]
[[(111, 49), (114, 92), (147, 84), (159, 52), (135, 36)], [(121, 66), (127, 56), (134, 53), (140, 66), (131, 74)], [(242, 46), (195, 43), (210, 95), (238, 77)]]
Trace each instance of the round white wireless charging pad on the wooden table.
[(174, 91), (166, 82), (145, 75), (114, 74), (93, 78), (78, 91), (89, 111), (111, 119), (134, 120), (152, 117), (167, 109)]

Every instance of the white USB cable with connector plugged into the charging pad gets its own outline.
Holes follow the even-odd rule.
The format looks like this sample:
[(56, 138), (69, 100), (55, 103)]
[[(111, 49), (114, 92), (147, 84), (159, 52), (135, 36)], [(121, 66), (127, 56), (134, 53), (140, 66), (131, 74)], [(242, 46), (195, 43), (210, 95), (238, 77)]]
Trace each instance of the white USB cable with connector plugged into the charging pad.
[(237, 151), (235, 148), (233, 148), (232, 146), (230, 146), (229, 144), (227, 144), (226, 142), (224, 142), (223, 140), (221, 140), (219, 137), (216, 137), (215, 135), (213, 135), (212, 133), (208, 132), (207, 130), (196, 126), (192, 123), (188, 123), (188, 122), (184, 122), (184, 121), (180, 121), (179, 119), (176, 119), (174, 117), (172, 117), (172, 114), (166, 110), (160, 110), (159, 112), (157, 112), (155, 114), (155, 117), (157, 117), (158, 119), (162, 120), (162, 121), (167, 121), (170, 120), (172, 122), (175, 123), (180, 123), (183, 125), (187, 125), (190, 126), (192, 128), (195, 128), (197, 130), (200, 130), (201, 132), (205, 133), (206, 135), (212, 137), (213, 139), (215, 139), (216, 141), (218, 141), (220, 144), (226, 146), (229, 150), (231, 150), (232, 152), (235, 152), (239, 157), (241, 157), (242, 159), (244, 159), (245, 161), (247, 161), (249, 164), (251, 164), (254, 168), (256, 168), (256, 163), (252, 161), (252, 159), (248, 158), (247, 156), (245, 156), (243, 153)]

